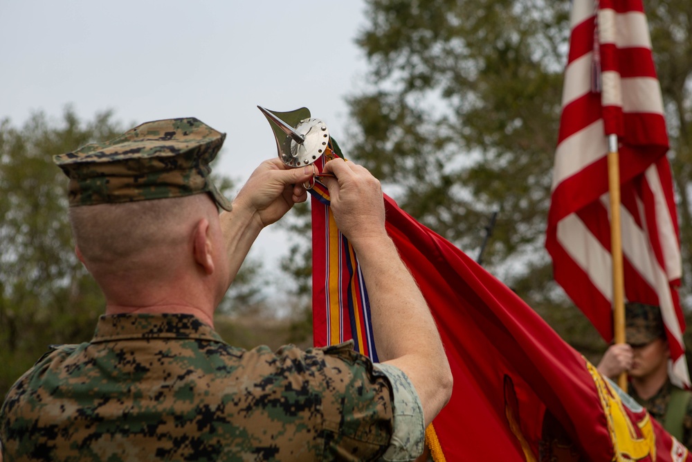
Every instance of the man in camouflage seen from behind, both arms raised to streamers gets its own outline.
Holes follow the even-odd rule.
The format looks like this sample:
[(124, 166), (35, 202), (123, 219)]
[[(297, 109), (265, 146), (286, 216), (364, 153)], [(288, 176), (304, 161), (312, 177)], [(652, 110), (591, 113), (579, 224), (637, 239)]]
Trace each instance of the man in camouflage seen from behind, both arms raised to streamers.
[(352, 343), (242, 350), (217, 335), (214, 310), (260, 230), (307, 199), (295, 185), (313, 169), (265, 161), (230, 204), (209, 177), (223, 141), (197, 119), (171, 119), (55, 157), (70, 178), (76, 252), (104, 292), (105, 315), (89, 343), (51, 346), (10, 389), (0, 411), (6, 462), (421, 454), (452, 378), (385, 231), (379, 181), (342, 159), (325, 166), (383, 362)]

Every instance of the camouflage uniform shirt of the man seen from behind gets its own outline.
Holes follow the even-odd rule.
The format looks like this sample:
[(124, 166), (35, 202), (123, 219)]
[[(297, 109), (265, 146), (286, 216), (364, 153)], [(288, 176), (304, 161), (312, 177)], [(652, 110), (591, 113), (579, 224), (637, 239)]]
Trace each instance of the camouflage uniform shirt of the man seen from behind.
[[(3, 403), (4, 462), (356, 461), (391, 454), (390, 438), (422, 450), (420, 402), (397, 391), (408, 378), (349, 344), (248, 351), (191, 315), (118, 314), (52, 348)], [(420, 442), (397, 438), (397, 393)]]

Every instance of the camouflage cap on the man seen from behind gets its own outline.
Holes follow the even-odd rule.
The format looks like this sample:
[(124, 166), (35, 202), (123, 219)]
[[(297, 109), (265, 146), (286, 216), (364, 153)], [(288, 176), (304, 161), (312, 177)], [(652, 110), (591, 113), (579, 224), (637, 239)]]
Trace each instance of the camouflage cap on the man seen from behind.
[(171, 118), (143, 123), (53, 161), (70, 178), (70, 206), (209, 193), (230, 211), (230, 201), (211, 181), (209, 166), (225, 138), (197, 118)]

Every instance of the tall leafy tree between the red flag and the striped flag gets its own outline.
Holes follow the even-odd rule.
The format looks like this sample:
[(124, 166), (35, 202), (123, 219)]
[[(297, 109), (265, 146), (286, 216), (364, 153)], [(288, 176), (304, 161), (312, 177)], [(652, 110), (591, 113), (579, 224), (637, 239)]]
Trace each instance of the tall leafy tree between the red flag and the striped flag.
[[(484, 259), (536, 255), (549, 206), (567, 4), (372, 1), (358, 43), (375, 89), (350, 100), (352, 154), (399, 204)], [(386, 90), (383, 90), (386, 89)]]

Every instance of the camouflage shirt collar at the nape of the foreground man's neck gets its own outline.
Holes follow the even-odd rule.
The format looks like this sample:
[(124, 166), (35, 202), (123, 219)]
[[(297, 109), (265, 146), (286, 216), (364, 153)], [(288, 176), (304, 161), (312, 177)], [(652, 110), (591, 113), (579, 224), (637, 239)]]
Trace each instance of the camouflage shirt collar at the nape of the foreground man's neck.
[[(91, 343), (126, 339), (223, 339), (192, 314), (104, 314), (98, 319)], [(225, 343), (225, 342), (224, 342)]]

